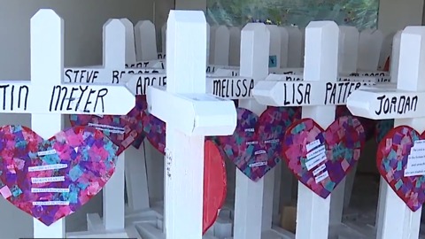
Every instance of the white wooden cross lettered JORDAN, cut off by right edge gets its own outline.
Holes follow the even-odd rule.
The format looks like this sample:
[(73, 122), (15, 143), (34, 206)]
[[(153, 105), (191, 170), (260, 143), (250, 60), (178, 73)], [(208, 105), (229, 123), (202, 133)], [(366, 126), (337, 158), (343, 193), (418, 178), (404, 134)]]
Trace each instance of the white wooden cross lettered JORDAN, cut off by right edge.
[[(425, 114), (420, 109), (425, 104), (424, 64), (425, 27), (406, 27), (401, 35), (397, 89), (358, 90), (348, 99), (349, 110), (368, 119), (395, 119), (395, 127), (410, 126), (421, 134), (425, 129)], [(383, 191), (379, 204), (384, 211), (379, 215), (376, 238), (419, 238), (421, 209), (412, 212), (388, 184)]]

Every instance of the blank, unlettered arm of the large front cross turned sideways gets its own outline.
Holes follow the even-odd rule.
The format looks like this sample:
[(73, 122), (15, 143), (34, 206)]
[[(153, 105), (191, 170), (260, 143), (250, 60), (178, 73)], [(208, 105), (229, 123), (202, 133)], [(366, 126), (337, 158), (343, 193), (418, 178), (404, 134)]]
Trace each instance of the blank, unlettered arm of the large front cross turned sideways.
[(235, 104), (216, 96), (149, 87), (147, 101), (151, 114), (185, 135), (232, 135), (236, 128)]

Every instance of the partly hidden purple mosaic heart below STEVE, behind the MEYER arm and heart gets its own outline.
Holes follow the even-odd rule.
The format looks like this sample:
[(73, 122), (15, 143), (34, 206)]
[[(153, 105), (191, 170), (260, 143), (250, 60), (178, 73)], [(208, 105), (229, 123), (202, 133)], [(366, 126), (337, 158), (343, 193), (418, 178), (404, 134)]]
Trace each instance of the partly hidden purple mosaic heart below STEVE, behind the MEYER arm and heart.
[(72, 114), (69, 120), (73, 127), (89, 126), (102, 130), (104, 135), (119, 146), (117, 154), (120, 155), (131, 144), (138, 149), (143, 142), (142, 122), (146, 107), (145, 96), (136, 96), (135, 107), (127, 115)]

